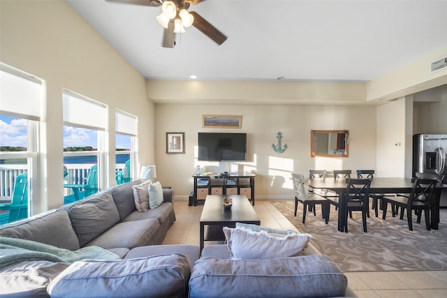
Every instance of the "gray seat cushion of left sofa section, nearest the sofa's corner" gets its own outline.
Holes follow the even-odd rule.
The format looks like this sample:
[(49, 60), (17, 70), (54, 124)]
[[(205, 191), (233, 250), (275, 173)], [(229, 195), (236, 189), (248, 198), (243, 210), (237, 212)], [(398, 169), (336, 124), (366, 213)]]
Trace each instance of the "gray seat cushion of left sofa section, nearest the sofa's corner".
[(95, 245), (102, 248), (135, 248), (152, 245), (154, 234), (160, 228), (156, 218), (142, 219), (141, 221), (127, 221), (117, 223), (109, 230), (91, 240), (87, 246)]

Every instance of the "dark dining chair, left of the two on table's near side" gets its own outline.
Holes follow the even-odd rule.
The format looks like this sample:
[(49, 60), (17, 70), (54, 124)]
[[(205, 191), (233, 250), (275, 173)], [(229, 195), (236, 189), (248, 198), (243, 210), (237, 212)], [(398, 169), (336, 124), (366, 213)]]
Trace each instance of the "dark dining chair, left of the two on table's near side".
[[(363, 232), (367, 232), (367, 209), (369, 208), (369, 187), (371, 186), (371, 179), (353, 179), (346, 178), (346, 198), (327, 198), (330, 204), (335, 207), (344, 207), (344, 232), (348, 232), (348, 214), (352, 211), (362, 212)], [(344, 202), (344, 206), (340, 206)], [(329, 207), (326, 211), (327, 220), (329, 221)]]

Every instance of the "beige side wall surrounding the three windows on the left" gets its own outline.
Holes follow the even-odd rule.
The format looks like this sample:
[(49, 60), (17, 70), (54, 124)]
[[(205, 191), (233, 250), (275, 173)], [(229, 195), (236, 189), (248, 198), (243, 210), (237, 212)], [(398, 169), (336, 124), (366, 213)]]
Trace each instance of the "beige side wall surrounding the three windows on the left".
[[(154, 163), (154, 105), (146, 98), (145, 78), (65, 1), (2, 0), (0, 5), (0, 61), (41, 77), (46, 86), (38, 211), (63, 204), (64, 88), (108, 105), (110, 165), (115, 164), (115, 108), (138, 117), (140, 163)], [(105, 173), (103, 186), (115, 184), (114, 172)]]

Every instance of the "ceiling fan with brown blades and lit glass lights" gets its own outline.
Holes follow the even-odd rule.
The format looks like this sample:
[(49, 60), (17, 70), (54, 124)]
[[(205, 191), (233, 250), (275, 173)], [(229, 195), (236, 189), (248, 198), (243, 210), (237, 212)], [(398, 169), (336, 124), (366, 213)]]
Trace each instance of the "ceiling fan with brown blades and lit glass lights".
[(161, 6), (161, 14), (156, 17), (161, 26), (165, 28), (163, 34), (163, 47), (174, 47), (175, 33), (184, 33), (184, 27), (194, 26), (206, 36), (221, 45), (226, 36), (207, 22), (195, 11), (188, 12), (191, 4), (198, 4), (205, 0), (105, 0), (144, 6)]

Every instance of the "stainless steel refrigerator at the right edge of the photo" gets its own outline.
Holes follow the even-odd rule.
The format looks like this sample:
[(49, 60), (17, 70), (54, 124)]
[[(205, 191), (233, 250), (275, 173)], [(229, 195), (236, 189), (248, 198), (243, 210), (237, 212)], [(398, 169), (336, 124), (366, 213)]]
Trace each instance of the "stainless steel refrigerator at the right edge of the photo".
[[(413, 135), (413, 177), (416, 172), (446, 175), (447, 135)], [(441, 207), (447, 207), (446, 191), (441, 194)]]

